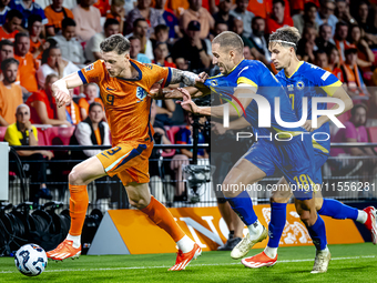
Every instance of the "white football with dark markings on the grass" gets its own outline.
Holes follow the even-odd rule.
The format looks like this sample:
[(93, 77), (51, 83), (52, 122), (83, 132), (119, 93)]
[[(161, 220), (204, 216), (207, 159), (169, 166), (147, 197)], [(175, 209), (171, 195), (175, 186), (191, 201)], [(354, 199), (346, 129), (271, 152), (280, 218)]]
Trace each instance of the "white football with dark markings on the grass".
[(17, 269), (27, 276), (41, 274), (48, 263), (44, 250), (38, 244), (22, 245), (14, 255)]

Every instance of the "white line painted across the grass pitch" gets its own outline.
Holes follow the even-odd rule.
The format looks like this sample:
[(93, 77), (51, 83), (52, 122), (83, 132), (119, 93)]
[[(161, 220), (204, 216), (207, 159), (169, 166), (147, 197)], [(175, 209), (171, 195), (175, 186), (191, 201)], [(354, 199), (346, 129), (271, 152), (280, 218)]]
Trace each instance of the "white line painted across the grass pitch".
[[(357, 260), (357, 259), (375, 259), (377, 255), (361, 255), (361, 256), (345, 256), (345, 257), (332, 257), (332, 261), (343, 261), (343, 260)], [(277, 263), (291, 263), (291, 262), (313, 262), (314, 259), (303, 259), (303, 260), (283, 260)], [(221, 266), (221, 265), (235, 265), (241, 264), (241, 262), (230, 262), (230, 263), (210, 263), (210, 264), (191, 264), (191, 266)], [(51, 265), (51, 263), (50, 263)], [(44, 272), (72, 272), (72, 271), (116, 271), (116, 270), (153, 270), (153, 269), (170, 269), (171, 266), (133, 266), (133, 267), (108, 267), (108, 269), (74, 269), (74, 270), (47, 270)], [(18, 271), (0, 271), (0, 274), (4, 273), (18, 273)]]

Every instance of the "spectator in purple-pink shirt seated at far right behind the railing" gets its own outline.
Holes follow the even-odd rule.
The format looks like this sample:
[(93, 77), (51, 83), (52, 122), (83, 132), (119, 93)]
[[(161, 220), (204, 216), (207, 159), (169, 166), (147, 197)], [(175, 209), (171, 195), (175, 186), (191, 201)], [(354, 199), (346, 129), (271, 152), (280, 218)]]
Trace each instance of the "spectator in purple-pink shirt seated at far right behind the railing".
[[(345, 122), (345, 128), (340, 128), (332, 142), (368, 142), (368, 133), (365, 128), (367, 121), (367, 108), (364, 104), (356, 104), (350, 110), (350, 119)], [(332, 148), (332, 156), (351, 155), (365, 156), (376, 155), (370, 148)]]

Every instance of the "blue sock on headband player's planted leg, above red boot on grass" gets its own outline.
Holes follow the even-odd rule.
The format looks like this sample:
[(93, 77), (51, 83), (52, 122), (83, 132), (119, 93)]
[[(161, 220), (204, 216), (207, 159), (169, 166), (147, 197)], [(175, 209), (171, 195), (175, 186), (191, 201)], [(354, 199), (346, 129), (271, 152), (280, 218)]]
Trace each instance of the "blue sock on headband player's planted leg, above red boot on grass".
[(271, 222), (268, 224), (268, 247), (278, 247), (287, 214), (286, 203), (271, 203)]

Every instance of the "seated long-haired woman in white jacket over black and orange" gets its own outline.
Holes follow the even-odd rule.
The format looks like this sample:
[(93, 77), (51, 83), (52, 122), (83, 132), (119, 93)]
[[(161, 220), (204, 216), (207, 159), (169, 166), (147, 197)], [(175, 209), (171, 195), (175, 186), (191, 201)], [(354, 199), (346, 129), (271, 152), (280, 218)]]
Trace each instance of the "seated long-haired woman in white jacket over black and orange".
[[(109, 124), (103, 121), (104, 112), (102, 104), (99, 102), (91, 103), (88, 113), (86, 119), (77, 125), (70, 144), (111, 145)], [(94, 156), (100, 152), (101, 150), (83, 150), (74, 153), (72, 152), (72, 156), (75, 160), (84, 160)], [(96, 201), (113, 196), (110, 192), (109, 181), (109, 176), (95, 180)], [(96, 204), (99, 204), (99, 202)]]

